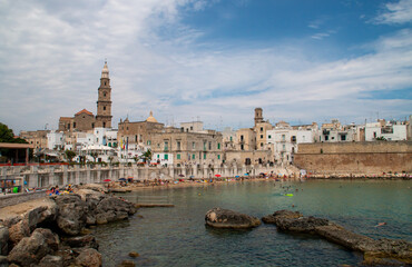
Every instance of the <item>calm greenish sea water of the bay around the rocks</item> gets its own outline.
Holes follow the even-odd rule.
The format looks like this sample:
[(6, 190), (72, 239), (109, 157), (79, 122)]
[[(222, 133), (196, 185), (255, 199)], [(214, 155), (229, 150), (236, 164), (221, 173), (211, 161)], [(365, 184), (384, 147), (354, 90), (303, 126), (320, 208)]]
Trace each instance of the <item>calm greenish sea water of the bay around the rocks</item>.
[[(412, 241), (412, 181), (244, 181), (122, 197), (135, 202), (167, 199), (176, 206), (139, 209), (129, 220), (95, 228), (104, 266), (124, 259), (136, 266), (359, 266), (362, 261), (359, 253), (313, 236), (278, 233), (274, 225), (252, 230), (205, 227), (205, 214), (213, 207), (258, 218), (293, 209), (372, 238)], [(381, 221), (388, 225), (374, 227)], [(140, 256), (133, 259), (130, 251)]]

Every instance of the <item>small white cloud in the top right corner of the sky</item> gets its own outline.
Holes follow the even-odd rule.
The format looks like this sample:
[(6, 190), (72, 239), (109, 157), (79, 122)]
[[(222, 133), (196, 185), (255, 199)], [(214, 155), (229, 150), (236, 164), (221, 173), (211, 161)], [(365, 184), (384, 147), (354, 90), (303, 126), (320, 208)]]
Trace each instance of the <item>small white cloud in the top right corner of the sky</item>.
[(384, 11), (376, 17), (375, 23), (399, 24), (412, 21), (412, 0), (386, 3)]

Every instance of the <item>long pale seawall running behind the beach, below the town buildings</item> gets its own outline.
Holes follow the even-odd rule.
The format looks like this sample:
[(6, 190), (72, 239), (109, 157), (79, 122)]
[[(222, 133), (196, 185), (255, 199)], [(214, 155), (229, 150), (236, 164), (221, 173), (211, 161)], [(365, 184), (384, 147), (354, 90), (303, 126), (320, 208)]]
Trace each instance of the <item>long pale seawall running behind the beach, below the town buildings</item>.
[[(102, 182), (106, 179), (112, 181), (119, 178), (131, 177), (135, 180), (154, 180), (154, 179), (180, 179), (195, 178), (208, 179), (220, 177), (235, 178), (236, 176), (258, 176), (265, 174), (284, 174), (297, 175), (297, 169), (293, 166), (287, 168), (269, 167), (268, 165), (258, 166), (183, 166), (183, 167), (138, 167), (133, 166), (11, 166), (0, 167), (0, 180), (16, 179), (21, 177), (24, 180), (26, 187), (29, 188), (47, 188), (50, 186), (62, 185), (80, 185)], [(298, 177), (298, 175), (297, 175)]]

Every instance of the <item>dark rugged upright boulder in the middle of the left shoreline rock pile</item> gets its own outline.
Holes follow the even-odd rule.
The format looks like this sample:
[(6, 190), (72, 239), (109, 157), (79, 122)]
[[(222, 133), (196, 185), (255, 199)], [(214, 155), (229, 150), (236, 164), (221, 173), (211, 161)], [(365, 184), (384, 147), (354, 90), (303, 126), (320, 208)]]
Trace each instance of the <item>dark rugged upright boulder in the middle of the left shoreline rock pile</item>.
[(59, 208), (58, 227), (67, 235), (78, 235), (86, 226), (87, 204), (79, 195), (57, 196), (55, 201)]

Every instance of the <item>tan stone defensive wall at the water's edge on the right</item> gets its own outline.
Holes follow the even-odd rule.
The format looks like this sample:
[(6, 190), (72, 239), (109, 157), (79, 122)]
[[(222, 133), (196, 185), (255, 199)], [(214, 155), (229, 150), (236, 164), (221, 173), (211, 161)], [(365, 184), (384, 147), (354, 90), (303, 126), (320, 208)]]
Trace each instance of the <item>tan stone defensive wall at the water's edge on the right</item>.
[(317, 175), (412, 172), (412, 142), (300, 144), (294, 165)]

